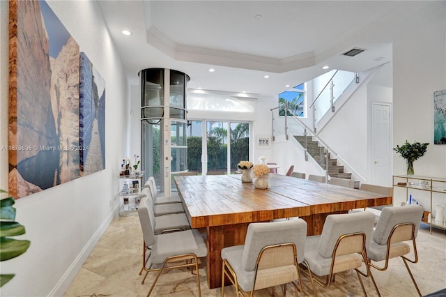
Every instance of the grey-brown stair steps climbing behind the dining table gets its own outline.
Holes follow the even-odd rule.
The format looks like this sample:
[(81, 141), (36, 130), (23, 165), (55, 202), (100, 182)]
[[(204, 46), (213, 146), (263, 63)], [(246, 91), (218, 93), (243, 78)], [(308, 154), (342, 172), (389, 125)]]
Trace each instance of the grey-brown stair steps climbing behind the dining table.
[[(294, 138), (305, 147), (305, 137), (294, 135)], [(307, 151), (316, 162), (325, 170), (325, 149), (323, 146), (319, 146), (318, 142), (315, 142), (311, 137), (307, 137)], [(344, 166), (337, 165), (337, 159), (332, 159), (330, 153), (328, 153), (328, 175), (330, 177), (351, 179), (351, 173), (344, 172)]]

